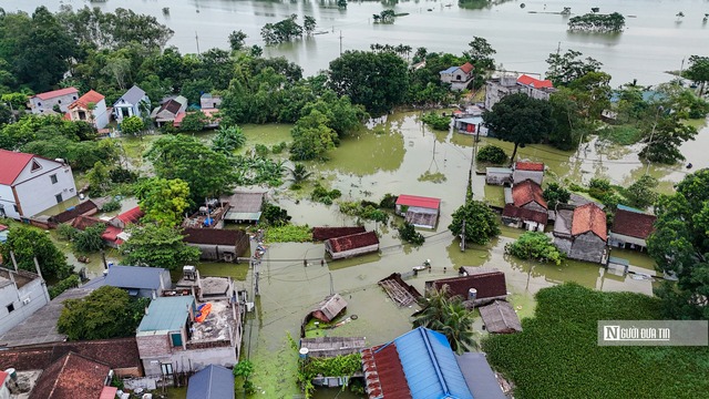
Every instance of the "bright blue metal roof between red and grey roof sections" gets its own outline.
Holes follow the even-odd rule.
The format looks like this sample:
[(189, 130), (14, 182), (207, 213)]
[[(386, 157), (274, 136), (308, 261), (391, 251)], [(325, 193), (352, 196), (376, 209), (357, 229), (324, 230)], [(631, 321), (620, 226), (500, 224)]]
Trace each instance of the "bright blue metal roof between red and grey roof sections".
[(419, 327), (394, 344), (413, 399), (473, 399), (444, 335)]

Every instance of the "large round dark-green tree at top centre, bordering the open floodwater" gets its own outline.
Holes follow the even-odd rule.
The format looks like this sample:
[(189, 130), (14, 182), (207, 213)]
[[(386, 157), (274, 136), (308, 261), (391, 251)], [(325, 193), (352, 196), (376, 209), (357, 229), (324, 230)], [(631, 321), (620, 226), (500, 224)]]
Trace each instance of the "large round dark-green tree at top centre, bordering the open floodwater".
[(407, 62), (390, 52), (346, 51), (330, 62), (330, 88), (364, 105), (372, 115), (401, 104), (408, 82)]

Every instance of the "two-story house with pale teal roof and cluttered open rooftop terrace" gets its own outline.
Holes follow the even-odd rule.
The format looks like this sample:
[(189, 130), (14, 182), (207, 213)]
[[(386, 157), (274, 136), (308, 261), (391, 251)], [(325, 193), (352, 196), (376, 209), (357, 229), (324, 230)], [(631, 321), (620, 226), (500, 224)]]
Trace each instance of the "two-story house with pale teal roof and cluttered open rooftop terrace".
[(135, 339), (147, 377), (210, 364), (232, 367), (239, 358), (242, 315), (232, 300), (198, 304), (192, 295), (161, 297), (145, 311)]

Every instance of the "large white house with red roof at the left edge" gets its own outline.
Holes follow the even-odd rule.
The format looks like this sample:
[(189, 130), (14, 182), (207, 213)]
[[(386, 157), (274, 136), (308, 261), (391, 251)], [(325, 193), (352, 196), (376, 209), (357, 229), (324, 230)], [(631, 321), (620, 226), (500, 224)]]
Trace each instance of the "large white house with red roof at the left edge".
[(60, 161), (0, 150), (0, 216), (32, 217), (75, 197), (71, 167)]

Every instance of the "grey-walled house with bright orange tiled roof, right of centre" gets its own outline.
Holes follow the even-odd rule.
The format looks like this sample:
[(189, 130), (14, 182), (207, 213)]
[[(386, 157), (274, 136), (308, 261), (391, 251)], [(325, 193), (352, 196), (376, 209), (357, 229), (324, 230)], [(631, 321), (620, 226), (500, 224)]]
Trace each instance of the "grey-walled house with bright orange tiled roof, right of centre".
[(593, 203), (558, 209), (554, 245), (569, 258), (604, 264), (607, 257), (606, 213)]

